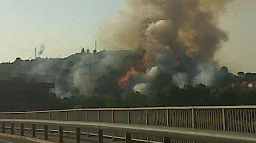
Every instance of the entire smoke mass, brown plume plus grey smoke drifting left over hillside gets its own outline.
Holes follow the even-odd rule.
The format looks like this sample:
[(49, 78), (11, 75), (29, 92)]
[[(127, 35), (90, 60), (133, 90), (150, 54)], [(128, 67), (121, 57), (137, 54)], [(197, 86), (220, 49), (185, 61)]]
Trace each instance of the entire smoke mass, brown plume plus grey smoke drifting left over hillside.
[[(180, 88), (214, 83), (214, 53), (227, 40), (217, 23), (228, 0), (125, 2), (126, 9), (99, 31), (107, 51), (37, 59), (27, 72), (55, 75), (56, 92), (62, 97), (120, 96), (131, 91), (152, 95), (170, 83)], [(38, 55), (44, 49), (42, 45)]]

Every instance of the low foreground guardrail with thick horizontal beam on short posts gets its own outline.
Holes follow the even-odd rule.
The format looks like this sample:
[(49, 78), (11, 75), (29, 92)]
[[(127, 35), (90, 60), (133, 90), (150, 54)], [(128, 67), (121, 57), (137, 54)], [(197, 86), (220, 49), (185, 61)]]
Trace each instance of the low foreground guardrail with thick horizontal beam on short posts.
[(15, 120), (1, 119), (2, 132), (5, 131), (4, 123), (11, 123), (11, 133), (14, 134), (14, 123), (20, 124), (21, 135), (24, 136), (24, 124), (32, 124), (32, 136), (36, 137), (36, 125), (44, 125), (44, 139), (48, 139), (48, 126), (59, 126), (59, 140), (63, 142), (63, 126), (76, 128), (76, 142), (80, 143), (81, 128), (98, 130), (98, 142), (103, 143), (103, 130), (125, 131), (126, 142), (131, 143), (131, 133), (142, 133), (152, 136), (164, 137), (164, 143), (170, 143), (170, 138), (181, 138), (193, 141), (207, 141), (208, 143), (255, 143), (256, 135), (250, 133), (214, 131), (204, 129), (189, 129), (176, 127), (159, 127), (146, 125), (129, 125), (118, 123), (79, 122), (79, 121), (49, 121), (49, 120)]

